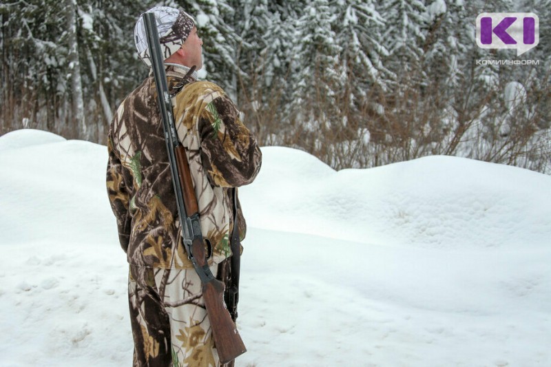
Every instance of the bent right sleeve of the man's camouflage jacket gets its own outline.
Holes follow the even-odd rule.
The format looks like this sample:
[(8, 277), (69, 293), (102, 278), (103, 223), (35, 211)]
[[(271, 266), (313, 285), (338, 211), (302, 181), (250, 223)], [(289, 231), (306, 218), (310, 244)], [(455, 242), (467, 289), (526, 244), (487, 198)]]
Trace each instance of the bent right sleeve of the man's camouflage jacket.
[(253, 182), (260, 171), (262, 153), (228, 96), (222, 94), (207, 104), (200, 115), (198, 133), (202, 165), (211, 185), (240, 187)]

